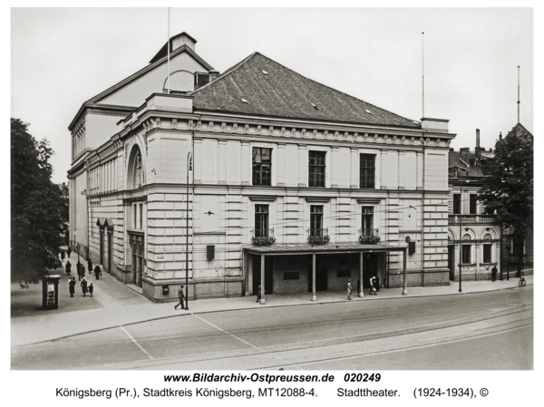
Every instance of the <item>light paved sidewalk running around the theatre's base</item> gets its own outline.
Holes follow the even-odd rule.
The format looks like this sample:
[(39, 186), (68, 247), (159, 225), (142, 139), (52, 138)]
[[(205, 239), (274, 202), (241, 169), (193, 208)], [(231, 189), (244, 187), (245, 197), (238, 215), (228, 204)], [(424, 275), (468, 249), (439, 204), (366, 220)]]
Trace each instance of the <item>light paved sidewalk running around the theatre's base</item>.
[[(71, 259), (73, 265), (77, 263)], [(86, 263), (85, 263), (86, 265)], [(347, 301), (345, 290), (317, 292), (317, 301), (311, 301), (311, 294), (285, 294), (266, 296), (267, 304), (256, 303), (255, 296), (189, 300), (189, 311), (174, 310), (175, 303), (152, 303), (135, 287), (125, 286), (114, 277), (103, 275), (96, 281), (94, 276), (87, 274), (87, 280), (92, 282), (94, 295), (92, 298), (83, 297), (79, 282), (76, 285), (74, 297), (70, 297), (67, 288), (68, 277), (63, 270), (61, 275), (59, 309), (43, 311), (41, 309), (42, 286), (31, 286), (21, 289), (18, 284), (12, 284), (12, 317), (11, 345), (20, 346), (38, 342), (59, 339), (74, 334), (99, 331), (119, 325), (129, 325), (160, 318), (180, 315), (203, 314), (218, 311), (239, 309), (263, 309), (271, 306), (290, 305), (323, 305)], [(76, 282), (77, 282), (77, 276)], [(533, 284), (533, 276), (526, 276), (527, 284)], [(352, 301), (378, 301), (383, 299), (413, 298), (419, 296), (462, 296), (465, 294), (498, 291), (518, 288), (519, 278), (510, 277), (510, 281), (496, 282), (467, 281), (462, 283), (462, 293), (459, 293), (459, 283), (450, 286), (413, 286), (408, 287), (408, 296), (403, 296), (403, 288), (383, 288), (377, 296), (358, 298), (356, 291)]]

